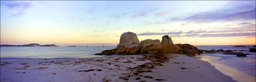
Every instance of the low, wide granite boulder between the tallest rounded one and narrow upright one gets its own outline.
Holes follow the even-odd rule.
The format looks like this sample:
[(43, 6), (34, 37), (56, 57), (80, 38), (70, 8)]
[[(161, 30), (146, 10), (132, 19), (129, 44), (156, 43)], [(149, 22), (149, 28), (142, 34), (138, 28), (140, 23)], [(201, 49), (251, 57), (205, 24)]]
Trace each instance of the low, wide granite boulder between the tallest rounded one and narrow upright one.
[(143, 40), (140, 42), (142, 46), (141, 54), (162, 54), (166, 53), (166, 45), (162, 44), (160, 40)]

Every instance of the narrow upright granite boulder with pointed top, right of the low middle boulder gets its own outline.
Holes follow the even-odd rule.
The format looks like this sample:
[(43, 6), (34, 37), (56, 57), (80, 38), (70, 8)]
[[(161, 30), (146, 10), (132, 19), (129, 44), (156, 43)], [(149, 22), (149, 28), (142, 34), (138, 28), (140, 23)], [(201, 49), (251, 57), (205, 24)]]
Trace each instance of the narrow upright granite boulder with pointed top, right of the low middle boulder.
[(161, 43), (166, 45), (166, 53), (178, 53), (183, 50), (182, 48), (174, 45), (172, 39), (168, 35), (164, 35), (162, 37)]

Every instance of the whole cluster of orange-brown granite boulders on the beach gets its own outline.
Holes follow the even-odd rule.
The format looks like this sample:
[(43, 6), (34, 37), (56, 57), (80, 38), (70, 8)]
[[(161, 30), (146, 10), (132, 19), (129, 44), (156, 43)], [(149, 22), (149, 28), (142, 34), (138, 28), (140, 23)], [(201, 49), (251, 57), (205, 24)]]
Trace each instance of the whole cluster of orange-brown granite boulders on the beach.
[(173, 44), (168, 35), (164, 35), (162, 40), (143, 40), (139, 41), (133, 32), (125, 32), (121, 35), (119, 44), (112, 50), (104, 50), (97, 55), (110, 54), (198, 54), (202, 53), (198, 48), (190, 44)]

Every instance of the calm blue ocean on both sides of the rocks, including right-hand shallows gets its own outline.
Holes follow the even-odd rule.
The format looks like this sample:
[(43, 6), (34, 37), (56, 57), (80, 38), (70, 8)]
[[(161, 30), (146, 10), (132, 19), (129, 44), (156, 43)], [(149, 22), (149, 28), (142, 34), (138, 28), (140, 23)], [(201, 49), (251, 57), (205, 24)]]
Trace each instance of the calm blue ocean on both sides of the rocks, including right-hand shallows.
[[(255, 81), (256, 53), (249, 52), (249, 48), (252, 48), (252, 45), (246, 45), (246, 47), (233, 46), (196, 45), (199, 49), (204, 50), (246, 50), (240, 52), (249, 53), (249, 55), (247, 57), (237, 57), (233, 54), (204, 53), (196, 57), (201, 57), (199, 60), (209, 62), (220, 72), (233, 77), (236, 81)], [(110, 50), (112, 48), (116, 47), (1, 47), (1, 60), (103, 57), (95, 55), (95, 53), (101, 53), (102, 50)]]

